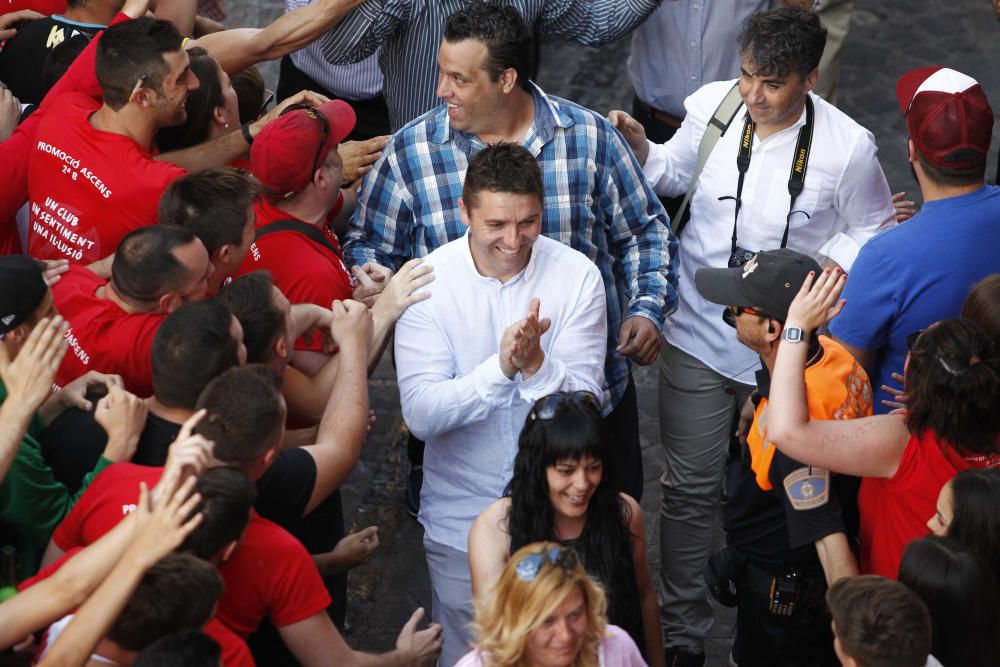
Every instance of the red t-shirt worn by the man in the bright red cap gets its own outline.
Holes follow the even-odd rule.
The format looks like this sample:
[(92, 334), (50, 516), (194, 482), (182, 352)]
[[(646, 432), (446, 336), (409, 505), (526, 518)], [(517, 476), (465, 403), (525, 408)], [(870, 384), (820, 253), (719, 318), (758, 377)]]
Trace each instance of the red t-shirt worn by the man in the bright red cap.
[[(254, 203), (254, 212), (258, 229), (279, 220), (295, 219), (264, 198)], [(270, 271), (274, 284), (292, 303), (314, 303), (329, 308), (335, 299), (350, 299), (354, 285), (341, 258), (337, 237), (326, 227), (317, 229), (326, 235), (336, 252), (298, 232), (273, 232), (251, 244), (250, 253), (233, 277), (261, 269)], [(313, 336), (311, 344), (302, 338), (295, 342), (297, 350), (322, 348), (320, 336)]]

